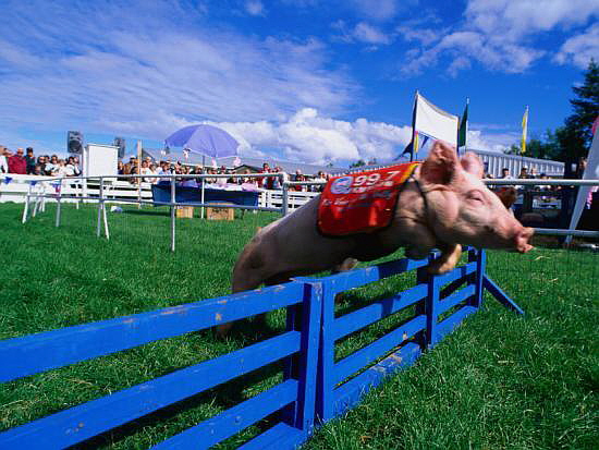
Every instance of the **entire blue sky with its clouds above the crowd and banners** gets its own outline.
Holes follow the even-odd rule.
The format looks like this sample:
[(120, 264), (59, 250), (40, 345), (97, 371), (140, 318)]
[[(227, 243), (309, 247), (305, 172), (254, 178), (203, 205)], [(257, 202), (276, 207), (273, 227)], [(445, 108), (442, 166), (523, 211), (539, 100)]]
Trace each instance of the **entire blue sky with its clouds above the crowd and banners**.
[(599, 0), (2, 1), (0, 144), (146, 146), (206, 122), (241, 154), (390, 159), (414, 93), (501, 150), (571, 113), (599, 60)]

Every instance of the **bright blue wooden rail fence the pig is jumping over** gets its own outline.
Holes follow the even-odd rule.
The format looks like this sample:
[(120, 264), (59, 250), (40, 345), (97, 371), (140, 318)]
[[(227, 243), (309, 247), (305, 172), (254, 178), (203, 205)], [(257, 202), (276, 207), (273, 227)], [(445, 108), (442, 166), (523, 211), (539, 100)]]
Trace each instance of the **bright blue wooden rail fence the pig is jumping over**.
[[(435, 257), (399, 259), (326, 278), (298, 278), (282, 285), (1, 341), (0, 382), (7, 382), (256, 314), (288, 311), (281, 335), (0, 433), (0, 449), (73, 446), (278, 361), (284, 362), (280, 384), (154, 448), (209, 448), (276, 412), (281, 412), (279, 422), (242, 448), (295, 448), (311, 434), (316, 419), (327, 422), (351, 408), (384, 376), (413, 364), (424, 350), (451, 332), (480, 306), (484, 289), (522, 313), (486, 277), (485, 252), (469, 250), (468, 263), (443, 276), (426, 271)], [(417, 270), (413, 288), (334, 316), (339, 293), (408, 270)], [(409, 306), (415, 306), (412, 318), (334, 361), (337, 341)]]

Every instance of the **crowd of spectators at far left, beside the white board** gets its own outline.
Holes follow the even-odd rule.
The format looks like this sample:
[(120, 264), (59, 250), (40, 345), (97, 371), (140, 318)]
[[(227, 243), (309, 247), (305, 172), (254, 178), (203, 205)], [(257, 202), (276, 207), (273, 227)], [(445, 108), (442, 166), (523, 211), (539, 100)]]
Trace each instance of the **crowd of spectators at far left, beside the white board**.
[(78, 177), (80, 160), (76, 156), (61, 159), (57, 155), (39, 155), (37, 158), (32, 147), (17, 148), (14, 154), (0, 146), (0, 173), (46, 177)]

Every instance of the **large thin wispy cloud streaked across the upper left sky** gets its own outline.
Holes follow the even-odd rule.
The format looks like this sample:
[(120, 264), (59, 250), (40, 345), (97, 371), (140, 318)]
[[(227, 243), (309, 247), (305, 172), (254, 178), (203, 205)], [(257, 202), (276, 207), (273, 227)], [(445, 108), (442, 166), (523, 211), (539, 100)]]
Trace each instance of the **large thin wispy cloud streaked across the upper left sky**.
[[(0, 46), (0, 129), (162, 139), (201, 120), (280, 120), (304, 107), (334, 114), (358, 96), (347, 75), (327, 68), (316, 39), (198, 26), (201, 13), (180, 11), (185, 3), (48, 4), (3, 11), (10, 46)], [(73, 24), (85, 29), (74, 33)]]

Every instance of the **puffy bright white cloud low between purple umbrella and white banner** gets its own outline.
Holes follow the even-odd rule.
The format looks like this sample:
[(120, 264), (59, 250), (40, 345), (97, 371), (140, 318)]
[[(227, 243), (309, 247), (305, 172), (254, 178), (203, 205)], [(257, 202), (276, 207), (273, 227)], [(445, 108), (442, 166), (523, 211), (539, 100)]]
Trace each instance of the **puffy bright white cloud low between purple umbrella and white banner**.
[(243, 155), (264, 155), (260, 148), (286, 159), (326, 163), (377, 158), (391, 160), (407, 145), (411, 126), (357, 119), (353, 122), (319, 115), (303, 108), (280, 123), (210, 122), (231, 133)]

